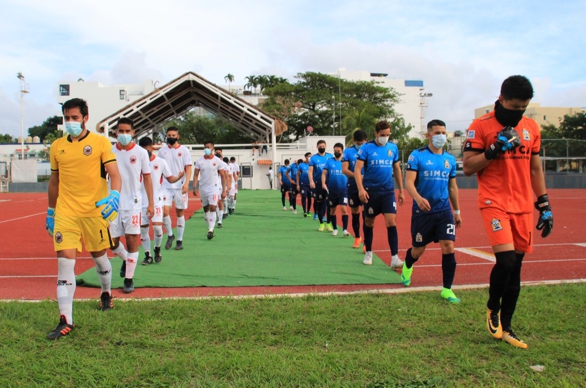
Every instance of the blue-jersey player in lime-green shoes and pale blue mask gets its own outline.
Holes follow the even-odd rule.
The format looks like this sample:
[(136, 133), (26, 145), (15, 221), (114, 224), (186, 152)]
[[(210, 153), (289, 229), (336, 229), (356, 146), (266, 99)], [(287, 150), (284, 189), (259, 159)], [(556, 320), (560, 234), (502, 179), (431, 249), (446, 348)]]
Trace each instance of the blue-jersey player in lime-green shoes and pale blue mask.
[(456, 186), (456, 158), (443, 149), (448, 140), (443, 121), (430, 121), (426, 137), (430, 144), (411, 152), (407, 161), (405, 188), (413, 198), (412, 247), (407, 250), (401, 280), (404, 286), (409, 286), (413, 264), (423, 255), (425, 246), (430, 242), (440, 242), (444, 275), (441, 297), (449, 303), (460, 303), (452, 291), (456, 272), (454, 241), (456, 228), (462, 225)]

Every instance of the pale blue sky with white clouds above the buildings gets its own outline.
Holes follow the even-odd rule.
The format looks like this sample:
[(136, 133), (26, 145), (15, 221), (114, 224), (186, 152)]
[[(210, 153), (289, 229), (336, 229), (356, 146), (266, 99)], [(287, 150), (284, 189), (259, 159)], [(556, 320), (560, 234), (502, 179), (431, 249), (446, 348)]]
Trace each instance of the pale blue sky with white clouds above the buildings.
[[(0, 0), (0, 133), (59, 114), (59, 81), (164, 84), (195, 71), (367, 70), (423, 80), (426, 118), (465, 129), (512, 74), (534, 102), (586, 107), (586, 1), (22, 1)], [(91, 114), (91, 107), (90, 107)]]

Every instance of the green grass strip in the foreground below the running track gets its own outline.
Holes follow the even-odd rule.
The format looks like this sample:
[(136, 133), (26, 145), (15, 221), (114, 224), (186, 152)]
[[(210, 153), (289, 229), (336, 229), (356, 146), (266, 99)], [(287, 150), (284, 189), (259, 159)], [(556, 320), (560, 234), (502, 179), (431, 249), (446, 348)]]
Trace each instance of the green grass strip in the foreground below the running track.
[(55, 302), (5, 302), (0, 386), (586, 386), (586, 284), (523, 287), (527, 350), (486, 332), (486, 294), (76, 301), (54, 342)]

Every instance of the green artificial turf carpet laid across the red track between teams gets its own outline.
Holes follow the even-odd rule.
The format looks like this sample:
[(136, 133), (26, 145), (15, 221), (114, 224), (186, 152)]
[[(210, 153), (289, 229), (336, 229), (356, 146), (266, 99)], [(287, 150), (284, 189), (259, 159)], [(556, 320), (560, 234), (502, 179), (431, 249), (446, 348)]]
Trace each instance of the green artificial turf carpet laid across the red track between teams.
[[(318, 232), (318, 222), (283, 211), (281, 194), (271, 190), (240, 190), (236, 212), (214, 229), (207, 240), (203, 209), (186, 221), (183, 250), (165, 250), (163, 260), (140, 265), (134, 274), (137, 287), (302, 286), (318, 284), (400, 283), (400, 275), (373, 255), (373, 265), (362, 264), (362, 249), (353, 238)], [(341, 224), (341, 222), (340, 222)], [(124, 239), (122, 239), (123, 241)], [(173, 243), (175, 248), (175, 243)], [(112, 253), (108, 251), (108, 255)], [(113, 277), (122, 261), (112, 259)], [(77, 276), (78, 284), (100, 287), (95, 268)], [(122, 282), (113, 281), (121, 284)]]

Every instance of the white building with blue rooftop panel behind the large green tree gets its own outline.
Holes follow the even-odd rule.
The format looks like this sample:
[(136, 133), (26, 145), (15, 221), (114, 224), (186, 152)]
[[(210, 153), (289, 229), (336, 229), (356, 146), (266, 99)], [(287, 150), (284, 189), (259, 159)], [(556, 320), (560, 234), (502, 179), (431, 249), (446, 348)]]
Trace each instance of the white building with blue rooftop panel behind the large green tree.
[[(350, 71), (340, 67), (335, 73), (328, 73), (334, 77), (340, 77), (348, 81), (375, 81), (381, 86), (391, 87), (398, 92), (399, 101), (395, 110), (403, 116), (406, 124), (413, 128), (409, 132), (410, 138), (420, 138), (422, 133), (425, 136), (426, 129), (423, 127), (427, 98), (431, 93), (424, 92), (423, 81), (404, 80), (403, 78), (388, 78), (386, 73), (370, 73), (370, 71)], [(338, 96), (336, 96), (338, 97)]]

